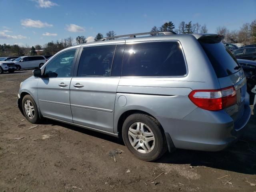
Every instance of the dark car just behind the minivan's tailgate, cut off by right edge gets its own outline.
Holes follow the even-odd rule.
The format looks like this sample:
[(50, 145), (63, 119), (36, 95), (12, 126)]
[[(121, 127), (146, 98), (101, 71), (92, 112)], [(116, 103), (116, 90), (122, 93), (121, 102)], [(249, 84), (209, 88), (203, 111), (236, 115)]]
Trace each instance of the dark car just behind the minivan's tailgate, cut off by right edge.
[(250, 104), (252, 104), (254, 93), (252, 93), (251, 90), (256, 85), (256, 61), (245, 59), (237, 59), (237, 61), (244, 70), (244, 75), (247, 80), (247, 92), (250, 94)]

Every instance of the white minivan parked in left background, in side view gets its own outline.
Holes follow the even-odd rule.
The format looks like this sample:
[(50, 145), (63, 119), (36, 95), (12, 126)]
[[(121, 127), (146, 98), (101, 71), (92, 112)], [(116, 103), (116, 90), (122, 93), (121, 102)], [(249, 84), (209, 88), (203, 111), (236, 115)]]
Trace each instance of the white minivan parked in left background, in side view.
[(44, 56), (22, 56), (14, 60), (17, 70), (42, 67), (45, 62)]

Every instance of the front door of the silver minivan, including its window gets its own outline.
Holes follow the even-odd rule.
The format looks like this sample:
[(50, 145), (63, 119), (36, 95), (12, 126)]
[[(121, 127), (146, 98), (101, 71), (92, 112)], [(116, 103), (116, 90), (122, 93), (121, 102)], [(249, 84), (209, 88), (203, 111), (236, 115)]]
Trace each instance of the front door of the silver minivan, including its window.
[[(43, 116), (72, 122), (70, 109), (70, 82), (76, 49), (55, 56), (42, 70), (43, 78), (38, 80), (37, 93), (40, 112)], [(63, 63), (65, 58), (72, 60)]]

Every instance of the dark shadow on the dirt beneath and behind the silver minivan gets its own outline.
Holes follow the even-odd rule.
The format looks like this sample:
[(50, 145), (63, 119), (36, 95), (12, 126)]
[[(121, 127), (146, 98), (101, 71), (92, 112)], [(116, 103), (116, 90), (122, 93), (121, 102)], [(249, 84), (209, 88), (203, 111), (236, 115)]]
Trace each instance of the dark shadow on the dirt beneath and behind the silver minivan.
[[(42, 124), (62, 126), (83, 134), (108, 140), (124, 145), (122, 138), (116, 138), (103, 133), (87, 130), (54, 120), (46, 120)], [(239, 172), (243, 174), (256, 174), (256, 119), (252, 116), (246, 134), (235, 144), (220, 152), (203, 152), (194, 150), (176, 149), (166, 153), (156, 163), (165, 164), (190, 164), (191, 166), (206, 166), (210, 168)]]

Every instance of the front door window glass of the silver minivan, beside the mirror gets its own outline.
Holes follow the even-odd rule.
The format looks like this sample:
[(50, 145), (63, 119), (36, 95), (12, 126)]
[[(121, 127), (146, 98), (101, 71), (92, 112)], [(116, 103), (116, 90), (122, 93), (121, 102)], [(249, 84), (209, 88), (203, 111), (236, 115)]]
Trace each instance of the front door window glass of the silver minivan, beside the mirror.
[(72, 49), (54, 57), (44, 68), (44, 77), (70, 77), (75, 53)]

